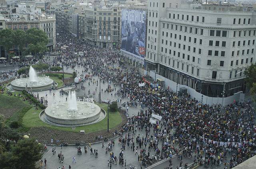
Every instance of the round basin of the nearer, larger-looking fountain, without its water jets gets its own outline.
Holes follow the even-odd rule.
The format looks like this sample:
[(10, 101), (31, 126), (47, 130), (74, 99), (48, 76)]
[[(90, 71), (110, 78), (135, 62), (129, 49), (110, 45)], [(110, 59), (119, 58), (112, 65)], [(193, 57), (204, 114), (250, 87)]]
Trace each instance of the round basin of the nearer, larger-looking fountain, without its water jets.
[(68, 102), (52, 104), (44, 110), (42, 121), (55, 126), (84, 126), (103, 120), (101, 108), (90, 102), (77, 102), (77, 110), (68, 110)]

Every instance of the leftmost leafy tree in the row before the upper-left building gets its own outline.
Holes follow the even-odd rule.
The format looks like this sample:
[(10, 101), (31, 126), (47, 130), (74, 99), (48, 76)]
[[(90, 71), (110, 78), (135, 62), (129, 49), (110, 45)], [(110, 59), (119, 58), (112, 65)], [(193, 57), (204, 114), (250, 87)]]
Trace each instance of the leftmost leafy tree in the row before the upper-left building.
[[(14, 45), (14, 32), (12, 29), (2, 29), (0, 31), (0, 46), (4, 47), (4, 50), (7, 53), (9, 53), (9, 50), (12, 49)], [(10, 57), (8, 57), (8, 60), (10, 60)]]

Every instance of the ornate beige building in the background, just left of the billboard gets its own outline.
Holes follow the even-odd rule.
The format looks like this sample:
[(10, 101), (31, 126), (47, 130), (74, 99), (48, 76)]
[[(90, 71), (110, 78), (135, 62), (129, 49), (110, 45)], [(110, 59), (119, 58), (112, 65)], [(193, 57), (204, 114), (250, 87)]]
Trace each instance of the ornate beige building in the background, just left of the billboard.
[(100, 47), (120, 47), (121, 9), (118, 6), (85, 8), (84, 41)]

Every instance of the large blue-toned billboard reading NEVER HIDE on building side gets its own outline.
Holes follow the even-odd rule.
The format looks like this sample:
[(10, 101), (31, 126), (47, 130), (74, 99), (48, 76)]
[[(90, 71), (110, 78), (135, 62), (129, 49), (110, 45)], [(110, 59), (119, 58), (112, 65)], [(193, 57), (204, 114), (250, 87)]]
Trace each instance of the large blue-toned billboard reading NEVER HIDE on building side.
[(122, 9), (121, 50), (144, 58), (146, 11)]

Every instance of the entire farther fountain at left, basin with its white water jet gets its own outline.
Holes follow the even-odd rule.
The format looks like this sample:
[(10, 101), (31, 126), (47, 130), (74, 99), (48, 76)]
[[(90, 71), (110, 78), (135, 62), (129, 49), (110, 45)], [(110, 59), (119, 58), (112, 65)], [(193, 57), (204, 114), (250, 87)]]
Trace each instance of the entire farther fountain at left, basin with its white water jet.
[(11, 82), (12, 89), (14, 90), (25, 90), (26, 88), (31, 88), (32, 91), (49, 90), (52, 88), (53, 80), (46, 77), (38, 77), (36, 71), (32, 66), (29, 69), (29, 77), (20, 79), (15, 79)]

